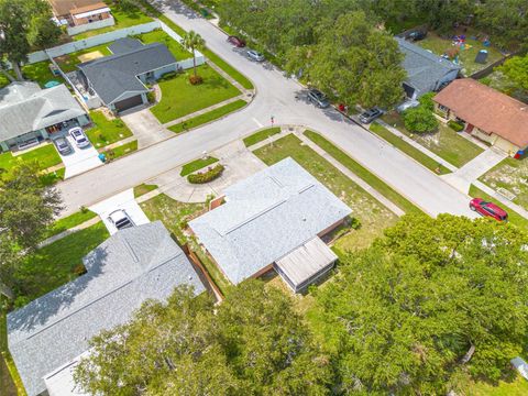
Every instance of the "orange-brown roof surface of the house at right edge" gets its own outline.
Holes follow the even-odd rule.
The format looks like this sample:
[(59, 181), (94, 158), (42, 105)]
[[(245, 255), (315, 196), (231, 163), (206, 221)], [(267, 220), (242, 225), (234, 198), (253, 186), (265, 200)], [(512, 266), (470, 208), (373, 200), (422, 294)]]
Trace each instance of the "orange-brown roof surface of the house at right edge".
[(528, 145), (528, 105), (471, 78), (458, 79), (433, 100), (488, 134), (524, 148)]

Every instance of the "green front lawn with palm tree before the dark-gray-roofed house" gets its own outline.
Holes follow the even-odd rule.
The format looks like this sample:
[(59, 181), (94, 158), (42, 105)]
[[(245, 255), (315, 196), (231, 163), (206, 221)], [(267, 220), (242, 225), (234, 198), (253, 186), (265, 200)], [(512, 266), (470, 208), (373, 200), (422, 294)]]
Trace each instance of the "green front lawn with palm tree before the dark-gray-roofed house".
[(207, 65), (198, 67), (198, 74), (204, 78), (204, 84), (191, 85), (189, 82), (191, 73), (193, 70), (187, 70), (167, 81), (160, 82), (162, 100), (151, 108), (151, 111), (161, 123), (176, 120), (240, 95), (235, 87)]

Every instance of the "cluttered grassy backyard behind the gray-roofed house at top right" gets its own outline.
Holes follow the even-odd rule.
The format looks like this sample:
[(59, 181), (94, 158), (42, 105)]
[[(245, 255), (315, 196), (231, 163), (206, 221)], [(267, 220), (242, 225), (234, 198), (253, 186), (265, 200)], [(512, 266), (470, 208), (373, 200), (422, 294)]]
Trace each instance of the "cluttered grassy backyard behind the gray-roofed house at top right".
[[(501, 54), (501, 51), (495, 48), (494, 46), (485, 47), (482, 41), (479, 40), (472, 40), (471, 36), (475, 34), (473, 31), (469, 31), (465, 33), (466, 36), (466, 48), (461, 50), (459, 53), (459, 58), (460, 58), (460, 66), (462, 67), (462, 73), (465, 76), (471, 76), (472, 74), (482, 70), (485, 68), (487, 65), (491, 65), (492, 63), (501, 59), (503, 57), (503, 54)], [(454, 32), (453, 32), (454, 35)], [(442, 55), (446, 51), (453, 48), (453, 45), (451, 45), (452, 40), (446, 40), (437, 35), (435, 32), (428, 32), (427, 37), (417, 42), (419, 46), (432, 51), (437, 55)], [(486, 50), (488, 55), (487, 55), (487, 63), (485, 65), (481, 65), (475, 63), (475, 56), (481, 50)]]

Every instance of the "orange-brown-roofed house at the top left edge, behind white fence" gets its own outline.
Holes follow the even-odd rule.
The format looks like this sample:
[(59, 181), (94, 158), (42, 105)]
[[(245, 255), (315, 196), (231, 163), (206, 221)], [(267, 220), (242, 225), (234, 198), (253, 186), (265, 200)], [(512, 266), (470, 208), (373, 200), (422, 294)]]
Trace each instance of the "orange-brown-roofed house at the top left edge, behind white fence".
[(48, 0), (56, 22), (68, 26), (74, 35), (87, 30), (111, 26), (116, 22), (108, 4), (101, 0)]

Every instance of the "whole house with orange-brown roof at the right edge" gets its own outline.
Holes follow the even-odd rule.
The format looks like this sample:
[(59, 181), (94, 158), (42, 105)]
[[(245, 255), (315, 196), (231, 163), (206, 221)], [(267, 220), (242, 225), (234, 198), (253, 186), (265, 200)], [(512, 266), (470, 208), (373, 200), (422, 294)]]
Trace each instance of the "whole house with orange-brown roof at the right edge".
[(528, 147), (528, 105), (471, 78), (454, 80), (433, 100), (443, 119), (463, 122), (465, 132), (510, 156)]

